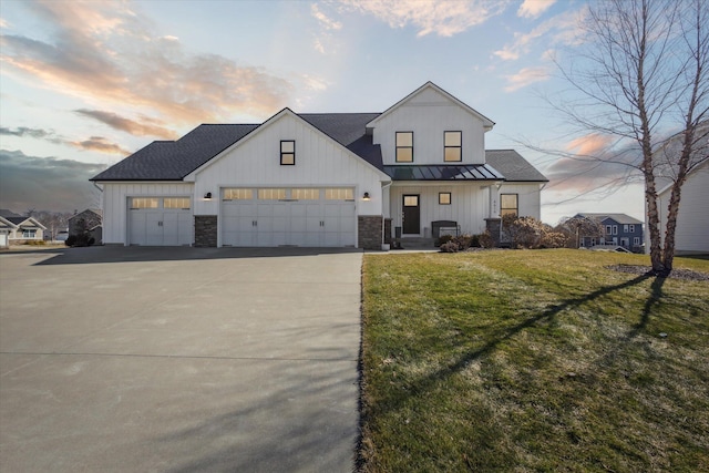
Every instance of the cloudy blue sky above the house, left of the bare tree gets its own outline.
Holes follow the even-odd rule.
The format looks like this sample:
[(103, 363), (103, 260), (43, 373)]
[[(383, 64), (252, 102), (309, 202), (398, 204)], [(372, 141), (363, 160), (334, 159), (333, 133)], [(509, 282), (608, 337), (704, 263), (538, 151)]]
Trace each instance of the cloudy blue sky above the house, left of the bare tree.
[[(496, 125), (552, 182), (543, 220), (643, 219), (643, 193), (525, 147), (594, 153), (543, 96), (566, 88), (585, 1), (27, 1), (0, 4), (0, 207), (97, 205), (86, 181), (201, 123), (296, 112), (381, 112), (433, 81)], [(594, 191), (596, 189), (596, 191)]]

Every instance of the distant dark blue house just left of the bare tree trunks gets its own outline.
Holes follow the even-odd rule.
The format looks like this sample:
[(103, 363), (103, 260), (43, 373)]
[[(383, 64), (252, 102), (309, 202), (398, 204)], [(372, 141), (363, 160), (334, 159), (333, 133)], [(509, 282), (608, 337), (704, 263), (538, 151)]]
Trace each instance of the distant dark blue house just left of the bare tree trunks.
[(643, 222), (626, 214), (576, 214), (576, 217), (593, 218), (600, 223), (602, 235), (580, 237), (580, 246), (617, 245), (634, 253), (643, 251)]

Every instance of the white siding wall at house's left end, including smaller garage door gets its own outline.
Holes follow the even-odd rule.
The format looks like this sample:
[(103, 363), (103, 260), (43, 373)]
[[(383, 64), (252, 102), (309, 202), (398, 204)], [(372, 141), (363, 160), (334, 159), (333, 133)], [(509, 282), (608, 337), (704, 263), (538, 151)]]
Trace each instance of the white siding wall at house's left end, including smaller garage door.
[[(100, 183), (103, 185), (103, 243), (179, 246), (194, 241), (193, 183)], [(189, 209), (163, 208), (164, 198), (189, 199)], [(131, 209), (132, 198), (156, 198), (158, 206)]]

